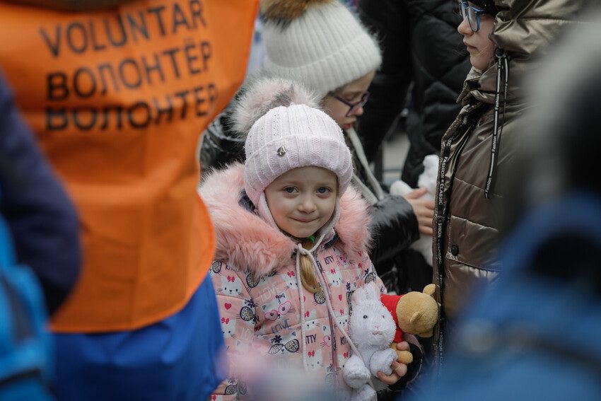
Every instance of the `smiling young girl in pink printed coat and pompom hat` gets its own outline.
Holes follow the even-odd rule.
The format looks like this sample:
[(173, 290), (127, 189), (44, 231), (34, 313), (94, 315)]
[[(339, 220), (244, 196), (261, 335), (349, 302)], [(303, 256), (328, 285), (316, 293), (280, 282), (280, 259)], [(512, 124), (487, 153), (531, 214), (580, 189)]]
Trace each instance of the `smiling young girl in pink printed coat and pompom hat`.
[[(231, 370), (215, 397), (224, 400), (247, 392), (236, 369), (250, 349), (348, 395), (351, 294), (374, 280), (385, 290), (368, 257), (366, 203), (349, 187), (351, 153), (336, 122), (304, 104), (312, 102), (291, 81), (251, 83), (235, 110), (237, 128), (250, 127), (245, 164), (200, 188), (216, 228), (211, 276)], [(407, 369), (392, 368), (387, 383)]]

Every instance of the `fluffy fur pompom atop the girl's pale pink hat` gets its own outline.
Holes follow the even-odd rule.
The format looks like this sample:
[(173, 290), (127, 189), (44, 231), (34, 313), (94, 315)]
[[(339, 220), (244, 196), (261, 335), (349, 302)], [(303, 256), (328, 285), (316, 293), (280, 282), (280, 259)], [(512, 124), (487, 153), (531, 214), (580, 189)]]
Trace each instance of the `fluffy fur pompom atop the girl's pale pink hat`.
[(319, 99), (301, 83), (269, 75), (256, 76), (240, 89), (232, 113), (233, 128), (246, 135), (269, 110), (292, 104), (319, 108)]

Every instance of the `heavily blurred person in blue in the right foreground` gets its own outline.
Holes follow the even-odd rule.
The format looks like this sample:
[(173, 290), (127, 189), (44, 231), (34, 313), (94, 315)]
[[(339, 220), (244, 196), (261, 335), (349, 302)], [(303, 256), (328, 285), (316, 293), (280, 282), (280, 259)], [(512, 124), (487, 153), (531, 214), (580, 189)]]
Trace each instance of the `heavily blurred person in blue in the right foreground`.
[[(595, 15), (595, 14), (593, 14)], [(469, 303), (440, 377), (415, 400), (601, 397), (601, 18), (530, 75), (504, 270)]]

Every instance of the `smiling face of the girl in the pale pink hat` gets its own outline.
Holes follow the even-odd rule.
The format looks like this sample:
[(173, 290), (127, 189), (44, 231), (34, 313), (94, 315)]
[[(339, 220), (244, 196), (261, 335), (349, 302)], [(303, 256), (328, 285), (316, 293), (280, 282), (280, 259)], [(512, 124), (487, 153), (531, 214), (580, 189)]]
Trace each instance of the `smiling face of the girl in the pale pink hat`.
[(265, 199), (281, 231), (307, 238), (332, 219), (337, 187), (332, 171), (311, 165), (280, 175), (265, 188)]

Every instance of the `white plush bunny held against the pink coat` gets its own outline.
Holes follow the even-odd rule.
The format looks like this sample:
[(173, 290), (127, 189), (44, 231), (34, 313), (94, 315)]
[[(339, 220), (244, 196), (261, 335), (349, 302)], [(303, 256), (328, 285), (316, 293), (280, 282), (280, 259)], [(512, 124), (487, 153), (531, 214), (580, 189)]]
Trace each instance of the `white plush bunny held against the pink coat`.
[(375, 282), (354, 292), (351, 299), (351, 339), (361, 355), (354, 354), (342, 371), (344, 381), (353, 388), (352, 401), (376, 399), (376, 390), (386, 387), (378, 380), (378, 371), (390, 375), (397, 352), (390, 348), (395, 338), (395, 321), (380, 302), (380, 291)]

